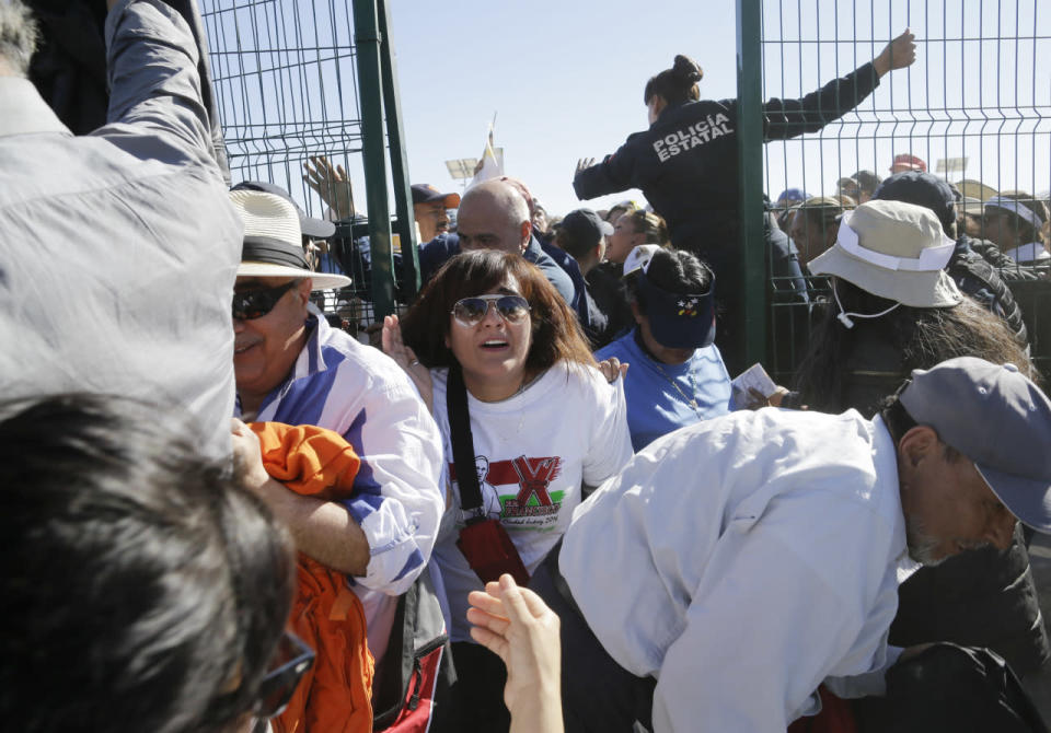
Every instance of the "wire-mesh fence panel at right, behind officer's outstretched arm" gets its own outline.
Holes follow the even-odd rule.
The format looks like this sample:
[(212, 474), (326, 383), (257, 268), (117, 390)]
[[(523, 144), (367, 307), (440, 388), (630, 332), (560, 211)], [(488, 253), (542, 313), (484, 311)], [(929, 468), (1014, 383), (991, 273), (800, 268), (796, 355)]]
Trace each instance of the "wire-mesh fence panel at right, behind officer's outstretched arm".
[[(743, 124), (758, 100), (801, 97), (871, 60), (906, 27), (916, 35), (916, 62), (885, 77), (855, 112), (820, 132), (763, 146), (755, 126)], [(839, 186), (841, 178), (859, 171), (885, 178), (897, 154), (922, 159), (949, 183), (962, 182), (959, 188), (968, 197), (988, 198), (993, 190), (1048, 198), (1051, 5), (1043, 0), (739, 0), (738, 47), (744, 202), (763, 193), (776, 201), (792, 188), (815, 198), (850, 193)], [(831, 209), (832, 202), (824, 206)], [(975, 201), (968, 206), (981, 209)], [(774, 213), (784, 216), (786, 209)], [(770, 324), (754, 322), (766, 329), (764, 363), (789, 383), (824, 284), (808, 280), (809, 304), (784, 298), (785, 283), (776, 278), (757, 284), (755, 272), (765, 269), (754, 254), (763, 246), (762, 230), (754, 211), (742, 208), (742, 224), (752, 224), (742, 226), (752, 274), (744, 283), (748, 301), (753, 312), (765, 309)], [(832, 216), (815, 212), (815, 219), (819, 236), (822, 219), (824, 226), (836, 226)], [(1016, 293), (1030, 325), (1033, 357), (1044, 370), (1051, 366), (1051, 296), (1046, 292), (1042, 286), (1023, 286)], [(758, 338), (753, 335), (753, 344)], [(753, 345), (752, 353), (760, 352)]]

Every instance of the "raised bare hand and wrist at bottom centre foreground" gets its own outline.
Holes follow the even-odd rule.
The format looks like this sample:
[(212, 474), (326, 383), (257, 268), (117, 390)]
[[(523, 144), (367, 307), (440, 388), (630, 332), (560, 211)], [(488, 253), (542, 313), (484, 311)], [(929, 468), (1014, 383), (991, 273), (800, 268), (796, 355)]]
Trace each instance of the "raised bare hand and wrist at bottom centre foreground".
[(558, 616), (506, 573), (467, 601), (471, 638), (507, 666), (504, 701), (511, 711), (511, 731), (562, 731)]

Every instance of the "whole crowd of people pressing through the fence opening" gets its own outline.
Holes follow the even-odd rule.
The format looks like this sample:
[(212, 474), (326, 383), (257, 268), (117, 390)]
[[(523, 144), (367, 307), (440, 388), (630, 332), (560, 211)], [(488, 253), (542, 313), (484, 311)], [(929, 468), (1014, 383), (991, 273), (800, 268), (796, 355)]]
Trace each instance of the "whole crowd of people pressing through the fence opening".
[[(0, 3), (12, 729), (1047, 730), (1016, 675), (1051, 659), (1051, 400), (1013, 295), (1047, 202), (911, 153), (786, 190), (767, 275), (807, 352), (731, 380), (737, 103), (677, 56), (574, 179), (648, 203), (414, 185), (423, 288), (367, 323), (346, 171), (304, 163), (325, 219), (229, 186), (194, 3), (106, 4), (78, 136)], [(767, 102), (765, 139), (914, 58)]]

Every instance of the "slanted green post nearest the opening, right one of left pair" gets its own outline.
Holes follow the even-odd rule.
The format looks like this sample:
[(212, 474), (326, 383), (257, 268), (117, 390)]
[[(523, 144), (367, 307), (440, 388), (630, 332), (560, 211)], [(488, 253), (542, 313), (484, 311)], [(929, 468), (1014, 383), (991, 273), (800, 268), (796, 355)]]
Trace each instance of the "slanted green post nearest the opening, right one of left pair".
[(402, 126), (402, 102), (397, 91), (397, 67), (391, 44), (391, 11), (386, 0), (378, 0), (380, 21), (380, 65), (383, 70), (383, 103), (386, 112), (386, 135), (391, 149), (391, 178), (394, 182), (394, 210), (397, 233), (402, 240), (402, 271), (405, 295), (419, 290), (419, 255), (416, 251), (416, 221), (413, 216), (408, 158), (405, 154), (405, 128)]

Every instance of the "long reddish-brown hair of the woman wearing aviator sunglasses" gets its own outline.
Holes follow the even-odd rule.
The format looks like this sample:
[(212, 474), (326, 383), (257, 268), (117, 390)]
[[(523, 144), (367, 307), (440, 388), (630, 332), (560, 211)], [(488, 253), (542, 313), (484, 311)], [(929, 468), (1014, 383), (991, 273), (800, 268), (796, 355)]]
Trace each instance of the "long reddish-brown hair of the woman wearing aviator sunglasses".
[(526, 368), (539, 373), (558, 361), (594, 366), (576, 314), (540, 268), (521, 255), (495, 249), (461, 253), (446, 263), (402, 318), (402, 339), (426, 366), (452, 365), (455, 357), (446, 346), (452, 306), (462, 298), (499, 287), (509, 277), (518, 282), (532, 309), (532, 344)]

